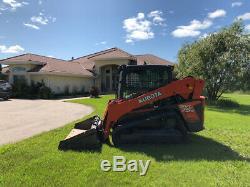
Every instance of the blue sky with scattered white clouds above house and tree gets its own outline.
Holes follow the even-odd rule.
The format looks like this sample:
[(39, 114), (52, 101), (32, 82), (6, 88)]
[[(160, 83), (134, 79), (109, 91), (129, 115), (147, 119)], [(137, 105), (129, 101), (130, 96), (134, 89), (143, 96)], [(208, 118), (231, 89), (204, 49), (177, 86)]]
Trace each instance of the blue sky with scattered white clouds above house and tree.
[(250, 0), (0, 0), (0, 59), (118, 47), (177, 62), (183, 44), (236, 19), (250, 32)]

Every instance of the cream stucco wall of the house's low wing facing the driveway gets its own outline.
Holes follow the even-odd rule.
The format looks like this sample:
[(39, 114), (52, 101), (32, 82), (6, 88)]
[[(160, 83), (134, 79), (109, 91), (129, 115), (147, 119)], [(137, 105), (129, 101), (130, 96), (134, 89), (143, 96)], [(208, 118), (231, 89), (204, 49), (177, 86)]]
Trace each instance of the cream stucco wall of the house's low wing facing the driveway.
[(66, 87), (68, 87), (70, 93), (82, 91), (83, 87), (85, 91), (89, 91), (93, 85), (92, 78), (73, 76), (31, 75), (31, 80), (34, 82), (41, 82), (43, 80), (45, 85), (51, 88), (56, 94), (64, 93)]

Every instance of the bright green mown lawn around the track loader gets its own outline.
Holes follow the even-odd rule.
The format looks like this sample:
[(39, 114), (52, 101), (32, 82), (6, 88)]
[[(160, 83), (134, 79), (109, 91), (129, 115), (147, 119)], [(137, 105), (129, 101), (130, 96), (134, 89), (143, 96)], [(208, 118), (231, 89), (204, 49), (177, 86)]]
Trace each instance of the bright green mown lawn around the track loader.
[[(250, 95), (225, 94), (237, 109), (206, 108), (206, 129), (187, 144), (102, 147), (101, 152), (62, 152), (58, 142), (73, 123), (22, 142), (0, 147), (0, 186), (249, 186)], [(108, 99), (74, 102), (93, 106), (102, 115)], [(92, 115), (93, 115), (92, 114)], [(146, 176), (102, 172), (102, 159), (114, 155), (151, 160)]]

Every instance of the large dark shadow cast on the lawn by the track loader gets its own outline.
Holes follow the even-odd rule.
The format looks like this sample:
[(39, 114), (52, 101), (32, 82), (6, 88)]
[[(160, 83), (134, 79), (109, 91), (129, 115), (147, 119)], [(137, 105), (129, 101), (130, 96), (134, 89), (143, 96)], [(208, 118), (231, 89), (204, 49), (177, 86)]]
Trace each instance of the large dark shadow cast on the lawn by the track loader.
[(143, 153), (154, 157), (157, 161), (250, 161), (250, 158), (242, 157), (226, 145), (194, 134), (190, 135), (189, 141), (183, 144), (124, 145), (119, 149), (126, 152)]

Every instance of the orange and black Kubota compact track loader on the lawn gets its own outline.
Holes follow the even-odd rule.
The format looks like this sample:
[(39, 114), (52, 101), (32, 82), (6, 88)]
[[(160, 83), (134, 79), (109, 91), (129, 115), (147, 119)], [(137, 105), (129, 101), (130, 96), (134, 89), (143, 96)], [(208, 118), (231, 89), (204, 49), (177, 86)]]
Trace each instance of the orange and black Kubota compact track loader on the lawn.
[(103, 120), (76, 124), (59, 149), (91, 149), (108, 140), (115, 146), (171, 142), (204, 128), (203, 80), (173, 79), (173, 67), (164, 65), (123, 65), (119, 72)]

